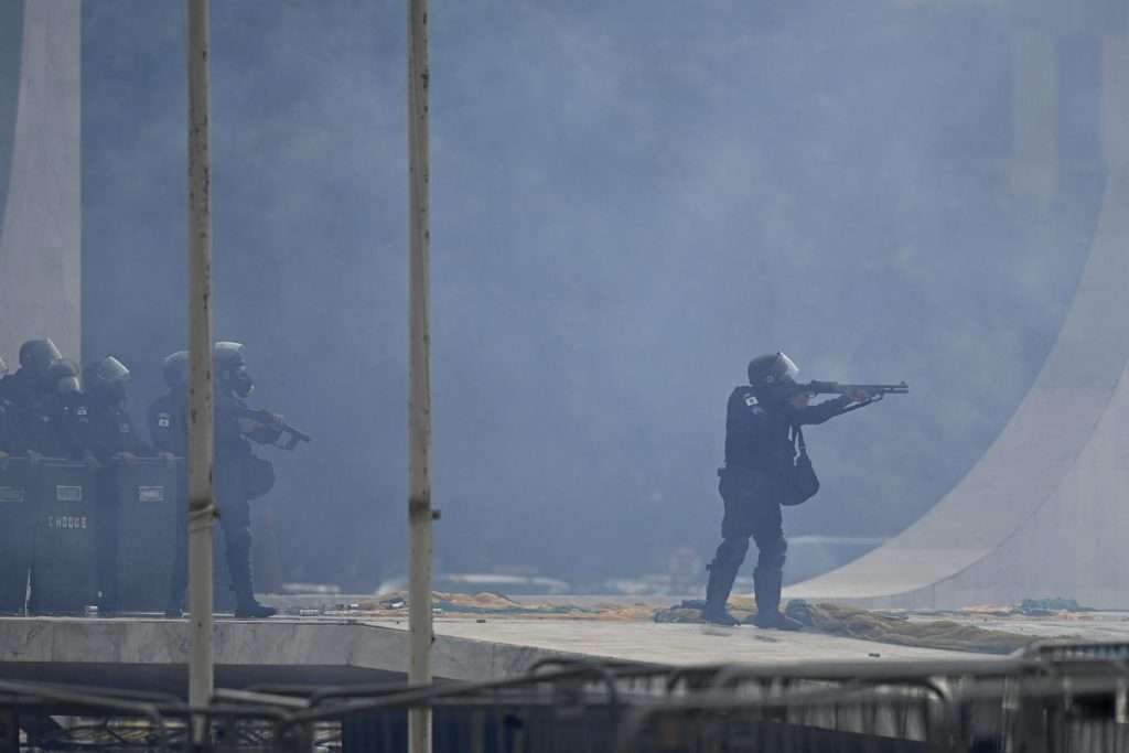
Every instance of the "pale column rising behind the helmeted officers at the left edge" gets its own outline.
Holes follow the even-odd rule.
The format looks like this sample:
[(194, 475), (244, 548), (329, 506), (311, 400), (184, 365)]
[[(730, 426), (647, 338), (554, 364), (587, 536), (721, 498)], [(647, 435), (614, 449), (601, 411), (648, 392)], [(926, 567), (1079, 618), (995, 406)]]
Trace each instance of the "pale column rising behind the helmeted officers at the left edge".
[[(80, 338), (80, 5), (3, 3), (17, 23), (0, 37), (0, 356), (50, 336), (79, 358)], [(18, 64), (10, 56), (19, 55)], [(6, 110), (7, 107), (7, 110)], [(11, 121), (5, 131), (5, 115)]]

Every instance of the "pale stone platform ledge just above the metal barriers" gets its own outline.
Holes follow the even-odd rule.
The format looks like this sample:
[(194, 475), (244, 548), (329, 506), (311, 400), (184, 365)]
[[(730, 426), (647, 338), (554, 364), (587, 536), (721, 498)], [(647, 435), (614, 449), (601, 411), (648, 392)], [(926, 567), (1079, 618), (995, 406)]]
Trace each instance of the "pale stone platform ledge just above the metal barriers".
[[(761, 634), (700, 624), (530, 620), (436, 620), (432, 668), (439, 680), (516, 677), (549, 659), (667, 666), (724, 663), (992, 662), (1001, 657), (821, 633)], [(216, 622), (221, 688), (262, 683), (402, 682), (405, 619), (274, 618)], [(182, 695), (187, 686), (189, 623), (146, 618), (0, 618), (0, 680), (79, 683)]]

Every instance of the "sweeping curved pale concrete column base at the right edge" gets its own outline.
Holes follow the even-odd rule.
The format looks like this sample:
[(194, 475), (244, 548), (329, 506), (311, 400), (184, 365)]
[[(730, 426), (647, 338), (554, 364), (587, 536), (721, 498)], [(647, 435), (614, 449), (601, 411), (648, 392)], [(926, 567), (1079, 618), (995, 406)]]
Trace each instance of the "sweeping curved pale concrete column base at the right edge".
[[(1073, 596), (1129, 607), (1129, 45), (1123, 34), (1091, 38), (1102, 58), (1094, 169), (1105, 187), (1087, 265), (1034, 387), (924, 518), (786, 597), (929, 608)], [(1040, 49), (1058, 54), (1052, 38), (1017, 43), (1016, 54)], [(1032, 163), (1047, 161), (1029, 158), (1013, 175), (1039, 174)]]

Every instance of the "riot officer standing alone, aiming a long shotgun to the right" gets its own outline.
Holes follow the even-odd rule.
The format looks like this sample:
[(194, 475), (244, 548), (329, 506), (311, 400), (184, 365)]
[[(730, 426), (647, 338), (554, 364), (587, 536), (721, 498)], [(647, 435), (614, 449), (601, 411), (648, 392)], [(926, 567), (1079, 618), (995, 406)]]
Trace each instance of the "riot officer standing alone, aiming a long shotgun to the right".
[(797, 392), (798, 369), (781, 352), (758, 356), (749, 362), (749, 384), (736, 387), (726, 408), (725, 467), (718, 471), (718, 490), (725, 502), (721, 544), (709, 564), (703, 616), (719, 624), (737, 624), (726, 602), (737, 570), (749, 551), (750, 536), (756, 542), (753, 589), (759, 628), (799, 630), (795, 620), (780, 613), (780, 587), (785, 553), (780, 515), (781, 483), (795, 456), (791, 431), (842, 413), (852, 403), (868, 402), (868, 395), (842, 395), (808, 405), (808, 395)]

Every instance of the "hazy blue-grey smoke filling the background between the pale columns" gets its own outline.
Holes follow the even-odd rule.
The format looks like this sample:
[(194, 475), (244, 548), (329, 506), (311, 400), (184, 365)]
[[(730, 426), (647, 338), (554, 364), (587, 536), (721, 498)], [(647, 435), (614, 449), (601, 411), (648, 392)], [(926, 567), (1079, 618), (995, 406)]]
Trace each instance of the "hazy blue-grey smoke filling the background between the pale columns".
[[(283, 579), (374, 588), (405, 569), (404, 3), (212, 14), (216, 332), (316, 438), (256, 505)], [(1009, 190), (1003, 3), (432, 0), (430, 20), (439, 569), (708, 560), (725, 401), (760, 352), (912, 387), (809, 432), (824, 487), (794, 535), (896, 533), (1034, 380), (1102, 180), (1082, 45), (1059, 60), (1071, 168), (1039, 200)], [(84, 3), (82, 65), (84, 354), (133, 369), (140, 419), (186, 342), (183, 3)]]

